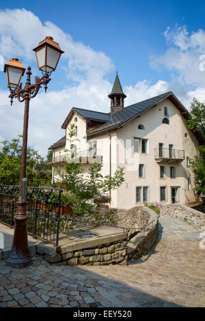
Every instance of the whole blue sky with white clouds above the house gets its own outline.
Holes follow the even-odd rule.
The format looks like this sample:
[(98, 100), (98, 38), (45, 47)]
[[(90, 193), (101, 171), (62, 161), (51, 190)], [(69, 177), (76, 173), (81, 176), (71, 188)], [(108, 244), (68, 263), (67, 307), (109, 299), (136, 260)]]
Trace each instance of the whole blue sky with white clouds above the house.
[[(205, 71), (199, 68), (204, 1), (1, 1), (0, 9), (1, 61), (18, 56), (35, 76), (32, 48), (44, 36), (65, 51), (47, 96), (32, 101), (29, 142), (42, 154), (64, 135), (61, 124), (72, 106), (109, 112), (116, 68), (125, 104), (169, 90), (187, 108), (193, 96), (205, 100)], [(10, 109), (8, 102), (0, 72), (0, 139), (20, 131), (23, 106), (15, 102)]]

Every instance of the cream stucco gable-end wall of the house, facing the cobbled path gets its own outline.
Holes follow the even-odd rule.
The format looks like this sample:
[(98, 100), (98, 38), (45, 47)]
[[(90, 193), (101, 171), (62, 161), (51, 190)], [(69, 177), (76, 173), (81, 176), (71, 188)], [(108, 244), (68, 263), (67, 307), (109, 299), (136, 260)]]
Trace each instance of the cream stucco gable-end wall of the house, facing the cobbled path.
[[(168, 107), (169, 124), (162, 124), (164, 107)], [(139, 130), (139, 124), (145, 126), (145, 130)], [(184, 137), (187, 132), (188, 137)], [(131, 168), (130, 165), (119, 163), (126, 169), (126, 182), (120, 186), (117, 195), (117, 204), (120, 208), (131, 208), (136, 203), (136, 186), (148, 186), (148, 201), (160, 201), (160, 186), (166, 186), (167, 199), (165, 203), (171, 203), (171, 186), (180, 186), (179, 200), (185, 204), (195, 200), (193, 189), (188, 191), (187, 178), (191, 170), (186, 165), (186, 157), (193, 157), (198, 153), (198, 142), (193, 133), (187, 128), (187, 124), (180, 115), (180, 111), (174, 104), (166, 99), (157, 104), (152, 109), (143, 113), (140, 117), (128, 123), (117, 131), (118, 139), (132, 139), (140, 137), (148, 139), (148, 154), (137, 155), (137, 163)], [(156, 163), (154, 159), (154, 148), (159, 148), (159, 143), (163, 143), (163, 148), (169, 148), (169, 144), (174, 145), (176, 150), (185, 150), (185, 159), (182, 163)], [(118, 160), (119, 161), (119, 160)], [(145, 177), (139, 178), (139, 164), (145, 165)], [(165, 178), (160, 178), (160, 165), (165, 165)], [(176, 167), (176, 178), (170, 178), (170, 166)], [(191, 175), (191, 187), (193, 187), (193, 175)]]

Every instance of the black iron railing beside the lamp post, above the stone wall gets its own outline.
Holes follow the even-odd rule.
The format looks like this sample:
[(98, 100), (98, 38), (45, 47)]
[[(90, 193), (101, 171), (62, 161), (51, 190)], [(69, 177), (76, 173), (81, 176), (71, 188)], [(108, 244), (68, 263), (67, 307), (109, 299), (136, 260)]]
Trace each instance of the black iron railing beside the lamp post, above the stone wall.
[[(20, 186), (18, 185), (0, 184), (0, 222), (5, 225), (14, 225), (19, 190)], [(67, 209), (65, 206), (61, 206), (62, 191), (62, 189), (54, 188), (27, 187), (27, 232), (33, 238), (46, 240), (58, 248), (59, 241), (70, 238), (70, 231), (73, 229), (91, 230), (94, 227), (106, 225), (118, 228), (118, 232), (113, 232), (114, 234), (122, 233), (122, 229), (123, 232), (130, 229), (130, 227), (122, 227), (115, 224), (87, 221), (70, 215), (72, 210), (69, 211), (69, 206)]]

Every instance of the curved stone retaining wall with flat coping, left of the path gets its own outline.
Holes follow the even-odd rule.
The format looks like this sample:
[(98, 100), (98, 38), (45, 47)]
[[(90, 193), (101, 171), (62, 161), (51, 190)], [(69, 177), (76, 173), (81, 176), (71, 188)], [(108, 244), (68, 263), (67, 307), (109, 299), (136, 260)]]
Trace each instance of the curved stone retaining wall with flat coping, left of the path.
[[(152, 222), (153, 220), (154, 222)], [(126, 227), (129, 230), (120, 234), (90, 238), (79, 242), (68, 242), (67, 245), (57, 249), (53, 245), (42, 242), (38, 244), (37, 253), (43, 255), (44, 260), (51, 263), (59, 262), (59, 264), (127, 264), (128, 249), (131, 247), (131, 244), (135, 253), (138, 253), (139, 256), (142, 253), (146, 253), (157, 239), (157, 216), (150, 208), (136, 206), (130, 210), (99, 210), (92, 214), (92, 216), (85, 215), (83, 221), (87, 222), (85, 223), (87, 225), (83, 225), (83, 227), (89, 227), (93, 223), (111, 224), (114, 222), (115, 224), (112, 225)], [(135, 238), (136, 230), (142, 229), (150, 222), (152, 222), (152, 225), (149, 225), (145, 231), (137, 234), (138, 239), (142, 237), (138, 241)], [(77, 228), (79, 227), (81, 226), (79, 225)], [(129, 247), (127, 246), (128, 244)], [(137, 257), (136, 255), (135, 257)]]

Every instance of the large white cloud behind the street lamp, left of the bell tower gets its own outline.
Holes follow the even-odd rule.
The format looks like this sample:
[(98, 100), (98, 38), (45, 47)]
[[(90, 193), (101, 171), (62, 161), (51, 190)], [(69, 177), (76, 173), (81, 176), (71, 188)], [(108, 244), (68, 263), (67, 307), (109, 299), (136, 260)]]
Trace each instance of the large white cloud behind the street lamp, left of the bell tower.
[[(61, 56), (63, 72), (76, 85), (64, 85), (64, 89), (48, 91), (48, 94), (41, 92), (31, 99), (28, 143), (42, 154), (64, 135), (61, 124), (72, 106), (109, 112), (107, 94), (111, 84), (104, 76), (113, 69), (113, 62), (105, 53), (74, 42), (68, 33), (49, 21), (42, 23), (32, 12), (25, 9), (0, 11), (0, 53), (5, 61), (15, 55), (25, 66), (29, 61), (33, 64), (36, 58), (32, 49), (48, 35), (65, 51)], [(34, 69), (33, 74), (36, 71)], [(24, 105), (15, 100), (10, 107), (8, 95), (9, 92), (0, 91), (0, 125), (2, 135), (12, 139), (23, 128)]]

